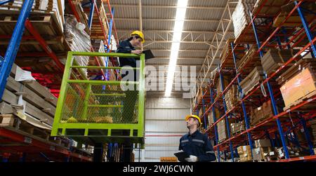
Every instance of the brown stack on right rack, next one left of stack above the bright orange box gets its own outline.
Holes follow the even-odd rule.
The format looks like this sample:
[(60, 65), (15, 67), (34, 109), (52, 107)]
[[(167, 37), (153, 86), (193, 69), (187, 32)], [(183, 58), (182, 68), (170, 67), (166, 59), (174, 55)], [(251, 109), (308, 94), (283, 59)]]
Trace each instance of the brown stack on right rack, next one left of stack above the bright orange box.
[(242, 87), (242, 91), (244, 95), (249, 93), (250, 90), (257, 86), (260, 81), (263, 80), (263, 68), (261, 66), (256, 66), (254, 70), (250, 72), (245, 79), (240, 82), (240, 86)]

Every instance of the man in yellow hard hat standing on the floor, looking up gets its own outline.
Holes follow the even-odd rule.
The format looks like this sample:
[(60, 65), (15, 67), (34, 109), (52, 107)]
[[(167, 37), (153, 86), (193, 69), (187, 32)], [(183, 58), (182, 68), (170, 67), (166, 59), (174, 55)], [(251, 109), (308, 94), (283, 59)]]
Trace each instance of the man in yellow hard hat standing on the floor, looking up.
[(185, 158), (187, 162), (207, 162), (215, 161), (216, 156), (213, 146), (206, 135), (197, 130), (201, 126), (201, 119), (196, 115), (185, 117), (189, 133), (180, 138), (179, 150), (185, 151), (190, 158)]

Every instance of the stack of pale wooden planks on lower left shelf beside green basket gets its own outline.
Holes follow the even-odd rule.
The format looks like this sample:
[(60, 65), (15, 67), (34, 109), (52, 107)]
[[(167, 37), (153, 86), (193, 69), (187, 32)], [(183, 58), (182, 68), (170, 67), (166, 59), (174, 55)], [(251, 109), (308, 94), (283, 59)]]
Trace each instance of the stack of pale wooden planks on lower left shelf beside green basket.
[(20, 68), (13, 64), (0, 102), (1, 126), (70, 147), (70, 140), (50, 136), (57, 97), (37, 81), (15, 81), (17, 69)]

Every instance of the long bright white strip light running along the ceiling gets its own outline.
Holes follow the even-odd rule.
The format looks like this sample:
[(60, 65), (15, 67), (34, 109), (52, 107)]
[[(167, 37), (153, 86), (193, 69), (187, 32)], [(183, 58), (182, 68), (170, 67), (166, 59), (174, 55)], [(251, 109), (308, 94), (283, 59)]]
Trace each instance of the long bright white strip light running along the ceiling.
[(185, 13), (187, 11), (187, 1), (188, 0), (178, 0), (177, 11), (176, 11), (176, 20), (173, 27), (173, 38), (171, 45), (170, 61), (168, 75), (166, 79), (166, 92), (165, 96), (169, 97), (171, 95), (172, 83), (174, 72), (177, 65), (178, 53), (180, 48), (180, 40), (183, 31), (183, 24), (185, 20)]

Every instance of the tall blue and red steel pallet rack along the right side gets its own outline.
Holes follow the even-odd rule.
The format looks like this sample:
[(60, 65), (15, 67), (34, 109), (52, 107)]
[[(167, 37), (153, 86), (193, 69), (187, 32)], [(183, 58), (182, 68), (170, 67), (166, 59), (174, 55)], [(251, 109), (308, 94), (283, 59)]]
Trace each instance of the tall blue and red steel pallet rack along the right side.
[[(231, 49), (229, 50), (229, 54), (226, 55), (224, 62), (222, 63), (222, 65), (218, 65), (218, 72), (216, 72), (216, 75), (214, 76), (215, 79), (220, 79), (220, 81), (223, 83), (223, 76), (222, 74), (227, 72), (227, 69), (230, 69), (230, 72), (233, 70), (233, 72), (235, 72), (235, 78), (232, 79), (232, 81), (228, 84), (228, 86), (226, 86), (226, 88), (223, 87), (223, 85), (221, 86), (221, 90), (223, 90), (221, 93), (219, 93), (218, 95), (216, 95), (216, 91), (214, 90), (214, 82), (210, 82), (209, 85), (207, 86), (206, 90), (204, 90), (202, 98), (199, 102), (196, 102), (195, 107), (192, 108), (193, 111), (196, 111), (197, 114), (199, 114), (199, 107), (203, 107), (203, 115), (202, 115), (202, 119), (206, 119), (206, 115), (208, 115), (211, 111), (214, 111), (215, 108), (218, 108), (220, 111), (222, 111), (223, 113), (221, 114), (219, 119), (216, 119), (215, 113), (213, 115), (213, 120), (215, 123), (210, 124), (207, 128), (205, 128), (204, 126), (204, 132), (205, 133), (209, 133), (210, 138), (214, 139), (216, 144), (214, 146), (214, 150), (217, 151), (217, 158), (218, 161), (220, 161), (220, 152), (222, 153), (226, 153), (227, 150), (229, 149), (230, 151), (230, 158), (232, 158), (232, 161), (234, 161), (234, 149), (236, 147), (238, 147), (239, 145), (242, 144), (250, 144), (251, 149), (252, 149), (252, 144), (254, 140), (260, 139), (261, 137), (268, 137), (271, 140), (272, 143), (272, 147), (275, 146), (275, 142), (278, 142), (277, 140), (273, 140), (273, 138), (277, 139), (277, 137), (279, 136), (280, 140), (282, 141), (282, 146), (284, 147), (284, 153), (285, 153), (285, 159), (283, 160), (279, 160), (279, 161), (308, 161), (308, 160), (316, 160), (316, 156), (314, 154), (314, 151), (312, 150), (312, 142), (310, 141), (310, 136), (308, 134), (308, 130), (307, 130), (307, 121), (309, 119), (312, 119), (316, 116), (315, 114), (315, 110), (309, 110), (308, 113), (305, 114), (301, 114), (299, 115), (300, 118), (296, 118), (295, 114), (292, 114), (291, 112), (293, 111), (299, 111), (300, 109), (302, 109), (303, 107), (306, 107), (310, 104), (315, 104), (315, 99), (316, 97), (310, 97), (308, 98), (308, 100), (302, 101), (298, 104), (296, 104), (294, 107), (291, 107), (289, 109), (287, 109), (286, 111), (282, 111), (282, 112), (278, 112), (277, 111), (277, 105), (275, 103), (275, 97), (277, 97), (279, 95), (279, 92), (277, 91), (277, 89), (272, 89), (272, 86), (275, 85), (271, 85), (271, 81), (272, 78), (277, 76), (277, 74), (279, 72), (282, 71), (282, 69), (286, 69), (287, 65), (289, 65), (291, 62), (293, 62), (294, 60), (296, 60), (296, 57), (298, 57), (298, 55), (301, 55), (303, 52), (305, 52), (304, 55), (307, 55), (308, 53), (311, 53), (314, 57), (315, 57), (315, 38), (312, 34), (312, 32), (315, 33), (315, 23), (312, 23), (313, 21), (311, 21), (310, 23), (307, 22), (304, 18), (303, 13), (313, 13), (315, 14), (315, 12), (310, 12), (310, 11), (305, 11), (305, 9), (303, 9), (301, 7), (301, 5), (304, 3), (303, 1), (295, 1), (295, 7), (291, 10), (291, 12), (289, 14), (287, 14), (287, 17), (284, 18), (284, 20), (281, 22), (281, 24), (279, 24), (278, 27), (276, 27), (272, 32), (269, 32), (268, 36), (265, 36), (265, 32), (261, 31), (260, 29), (258, 29), (258, 22), (256, 22), (257, 18), (275, 18), (277, 15), (273, 15), (273, 16), (266, 16), (263, 14), (260, 14), (261, 10), (264, 7), (268, 7), (269, 5), (267, 4), (268, 0), (264, 0), (262, 5), (257, 7), (256, 9), (254, 9), (254, 11), (256, 10), (256, 13), (253, 12), (249, 12), (249, 14), (251, 15), (252, 13), (254, 13), (251, 22), (249, 23), (249, 25), (244, 29), (244, 32), (241, 36), (239, 36), (236, 40), (235, 43), (231, 42), (230, 46)], [(283, 4), (285, 5), (285, 3)], [(279, 6), (280, 7), (280, 6)], [(301, 27), (301, 29), (295, 30), (295, 29), (287, 29), (287, 31), (284, 30), (282, 26), (282, 24), (284, 24), (284, 22), (286, 22), (291, 15), (297, 11), (298, 15), (301, 19), (301, 25), (303, 25), (303, 27)], [(315, 20), (315, 18), (313, 19)], [(271, 28), (270, 24), (262, 26), (262, 24), (259, 23), (259, 25), (261, 25), (261, 27), (265, 27), (265, 29)], [(311, 26), (310, 26), (311, 25)], [(252, 31), (251, 31), (251, 27), (252, 27)], [(245, 42), (242, 41), (242, 37), (243, 35), (246, 35), (246, 33), (248, 32), (248, 34), (252, 34), (252, 36), (254, 37), (254, 41), (252, 41), (251, 43), (249, 42)], [(252, 32), (252, 33), (251, 33)], [(265, 79), (264, 81), (261, 83), (261, 85), (267, 83), (266, 85), (266, 89), (268, 88), (269, 90), (269, 95), (270, 98), (266, 97), (263, 98), (264, 100), (271, 100), (272, 102), (272, 107), (273, 107), (273, 112), (275, 116), (271, 116), (268, 119), (265, 119), (265, 121), (262, 121), (258, 124), (256, 124), (256, 126), (254, 127), (250, 127), (249, 126), (249, 116), (247, 115), (247, 109), (249, 107), (253, 107), (254, 104), (256, 104), (256, 102), (254, 102), (254, 96), (255, 93), (258, 92), (258, 90), (261, 88), (261, 85), (259, 86), (255, 86), (255, 88), (253, 90), (250, 91), (250, 93), (247, 93), (246, 95), (242, 95), (241, 100), (239, 100), (239, 102), (237, 104), (235, 104), (234, 107), (232, 107), (232, 109), (228, 110), (226, 109), (225, 106), (225, 99), (224, 95), (225, 93), (227, 93), (228, 89), (232, 86), (232, 84), (236, 84), (239, 87), (239, 92), (242, 93), (242, 90), (239, 86), (239, 83), (241, 81), (241, 76), (242, 74), (245, 74), (245, 71), (247, 71), (245, 68), (237, 68), (236, 66), (236, 60), (237, 57), (242, 57), (242, 55), (244, 55), (244, 52), (246, 50), (249, 49), (249, 44), (255, 44), (258, 47), (258, 50), (256, 50), (257, 55), (259, 55), (259, 57), (263, 57), (263, 47), (275, 47), (275, 48), (294, 48), (295, 46), (298, 46), (298, 43), (300, 43), (303, 39), (306, 39), (305, 37), (302, 37), (302, 34), (305, 34), (304, 36), (307, 36), (308, 38), (308, 43), (303, 46), (303, 48), (301, 48), (301, 50), (296, 53), (296, 55), (294, 55), (294, 57), (291, 57), (286, 63), (284, 63), (284, 65), (282, 65), (282, 67), (279, 67), (279, 69), (277, 69), (275, 72), (272, 72), (271, 74), (267, 75), (265, 74)], [(284, 39), (281, 38), (284, 37)], [(291, 39), (289, 39), (289, 36), (291, 36)], [(297, 41), (294, 42), (295, 39), (298, 38), (298, 36), (301, 37), (301, 39), (298, 39)], [(281, 43), (281, 41), (283, 41), (283, 45)], [(261, 44), (262, 43), (262, 44)], [(276, 44), (275, 44), (276, 43)], [(244, 47), (244, 46), (247, 47)], [(290, 46), (291, 45), (291, 46)], [(240, 50), (240, 47), (244, 48), (242, 50)], [(240, 56), (241, 55), (241, 56)], [(302, 54), (303, 55), (303, 54)], [(233, 62), (232, 65), (233, 67), (226, 67), (225, 65), (227, 65), (228, 62)], [(260, 62), (260, 61), (259, 61)], [(209, 97), (207, 97), (206, 95), (211, 95)], [(249, 100), (249, 97), (252, 96), (252, 99)], [(221, 98), (222, 97), (222, 98)], [(205, 107), (208, 107), (207, 109)], [(256, 106), (258, 107), (258, 105)], [(232, 116), (232, 112), (236, 109), (242, 109), (242, 116), (244, 117), (244, 121), (246, 122), (246, 130), (242, 131), (242, 133), (237, 133), (236, 135), (232, 135), (229, 136), (227, 140), (224, 140), (223, 142), (218, 142), (218, 131), (217, 131), (217, 124), (219, 121), (226, 119), (226, 125), (228, 125), (228, 116)], [(248, 111), (249, 112), (249, 111)], [(242, 117), (241, 116), (241, 117)], [(241, 119), (241, 117), (239, 117), (239, 119)], [(290, 121), (289, 121), (290, 120)], [(293, 124), (294, 127), (293, 127)], [(289, 127), (291, 126), (292, 127)], [(263, 128), (265, 127), (265, 128)], [(266, 130), (268, 128), (268, 130)], [(287, 151), (287, 144), (286, 142), (295, 142), (297, 141), (296, 136), (294, 135), (294, 137), (291, 135), (291, 131), (294, 130), (298, 130), (300, 128), (304, 129), (305, 132), (305, 137), (308, 141), (308, 149), (310, 152), (310, 156), (304, 156), (304, 157), (298, 157), (298, 158), (289, 158), (289, 152)], [(228, 128), (228, 134), (230, 135), (230, 129)], [(284, 130), (286, 130), (286, 132), (284, 133)], [(211, 133), (213, 132), (214, 133)], [(289, 134), (290, 133), (290, 134)], [(295, 134), (295, 133), (294, 133)], [(287, 139), (287, 137), (290, 136), (291, 140)], [(296, 142), (296, 145), (300, 145), (298, 142)], [(237, 153), (237, 152), (236, 152)]]

